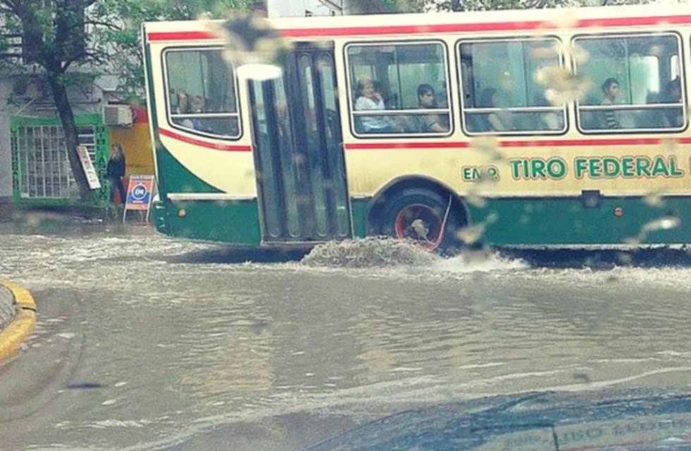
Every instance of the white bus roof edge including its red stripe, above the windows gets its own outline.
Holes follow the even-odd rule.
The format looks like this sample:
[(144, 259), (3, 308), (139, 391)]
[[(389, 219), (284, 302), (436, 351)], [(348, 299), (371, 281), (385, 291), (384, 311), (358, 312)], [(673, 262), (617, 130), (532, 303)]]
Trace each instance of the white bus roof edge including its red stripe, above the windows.
[[(363, 16), (315, 16), (267, 19), (291, 39), (348, 36), (396, 36), (454, 32), (509, 32), (581, 27), (630, 27), (691, 23), (691, 4), (649, 4), (587, 8), (402, 13)], [(221, 20), (145, 23), (147, 41), (218, 39), (213, 25)], [(382, 25), (385, 24), (385, 25)]]

